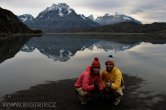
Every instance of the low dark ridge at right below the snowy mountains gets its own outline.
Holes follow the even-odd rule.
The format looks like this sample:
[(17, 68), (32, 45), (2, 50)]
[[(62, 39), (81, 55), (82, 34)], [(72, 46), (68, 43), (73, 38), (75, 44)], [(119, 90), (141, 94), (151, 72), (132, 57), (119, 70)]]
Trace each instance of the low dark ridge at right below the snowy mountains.
[(115, 32), (115, 33), (166, 33), (166, 23), (138, 24), (124, 22), (115, 25), (104, 25), (87, 28), (85, 32)]

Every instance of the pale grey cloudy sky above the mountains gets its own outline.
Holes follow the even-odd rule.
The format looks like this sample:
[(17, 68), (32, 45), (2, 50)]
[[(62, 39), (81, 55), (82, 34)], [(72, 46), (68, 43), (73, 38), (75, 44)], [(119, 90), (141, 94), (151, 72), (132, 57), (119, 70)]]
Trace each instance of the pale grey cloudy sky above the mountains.
[(105, 13), (126, 14), (143, 23), (166, 22), (166, 0), (0, 0), (0, 7), (16, 15), (36, 17), (52, 4), (67, 3), (78, 14), (103, 16)]

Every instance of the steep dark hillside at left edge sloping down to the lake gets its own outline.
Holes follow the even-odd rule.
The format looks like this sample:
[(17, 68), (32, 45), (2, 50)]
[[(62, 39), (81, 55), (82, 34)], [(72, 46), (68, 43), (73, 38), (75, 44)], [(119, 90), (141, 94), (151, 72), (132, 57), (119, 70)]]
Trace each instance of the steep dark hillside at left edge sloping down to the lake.
[(6, 36), (18, 33), (41, 33), (41, 31), (35, 31), (29, 29), (23, 24), (16, 15), (11, 11), (0, 7), (0, 36)]

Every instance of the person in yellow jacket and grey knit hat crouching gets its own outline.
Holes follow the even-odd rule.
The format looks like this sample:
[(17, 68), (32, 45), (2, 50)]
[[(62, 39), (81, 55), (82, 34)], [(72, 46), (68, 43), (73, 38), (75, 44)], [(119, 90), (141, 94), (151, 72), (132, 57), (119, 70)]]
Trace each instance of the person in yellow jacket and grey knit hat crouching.
[(118, 67), (115, 66), (115, 61), (112, 55), (110, 55), (107, 61), (105, 61), (105, 65), (106, 68), (104, 68), (101, 73), (104, 90), (107, 91), (107, 93), (116, 94), (114, 105), (118, 105), (120, 103), (120, 98), (123, 96), (123, 76)]

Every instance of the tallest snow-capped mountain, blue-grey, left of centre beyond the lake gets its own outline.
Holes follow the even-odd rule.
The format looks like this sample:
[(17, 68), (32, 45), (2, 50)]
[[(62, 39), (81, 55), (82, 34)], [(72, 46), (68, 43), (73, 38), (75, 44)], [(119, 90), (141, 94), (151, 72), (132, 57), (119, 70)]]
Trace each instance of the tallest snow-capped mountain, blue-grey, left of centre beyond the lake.
[[(25, 21), (26, 19), (22, 18)], [(82, 14), (77, 14), (66, 3), (53, 4), (47, 7), (34, 19), (33, 25), (25, 22), (33, 29), (41, 29), (44, 32), (69, 32), (79, 31), (83, 28), (99, 26)]]

